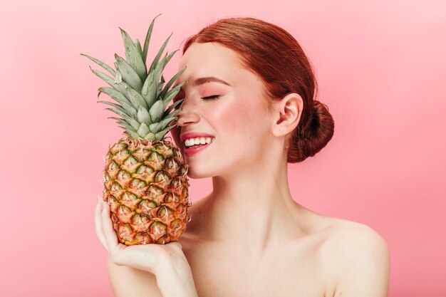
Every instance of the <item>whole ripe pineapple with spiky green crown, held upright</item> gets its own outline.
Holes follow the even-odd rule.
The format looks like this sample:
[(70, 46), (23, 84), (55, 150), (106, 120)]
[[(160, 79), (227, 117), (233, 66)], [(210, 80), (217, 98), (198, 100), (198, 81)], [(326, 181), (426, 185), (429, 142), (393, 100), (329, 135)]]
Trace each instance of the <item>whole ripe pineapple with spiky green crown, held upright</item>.
[(162, 71), (178, 51), (166, 53), (161, 58), (172, 34), (147, 68), (147, 48), (155, 19), (147, 31), (144, 48), (138, 39), (133, 42), (120, 28), (126, 60), (115, 54), (116, 70), (81, 53), (112, 75), (90, 67), (112, 87), (99, 88), (98, 97), (105, 93), (116, 101), (98, 102), (111, 106), (106, 109), (120, 118), (110, 118), (117, 120), (119, 127), (124, 129), (125, 136), (110, 145), (105, 157), (103, 199), (110, 204), (118, 241), (128, 246), (176, 241), (190, 222), (187, 214), (191, 206), (186, 175), (188, 165), (185, 165), (180, 149), (164, 138), (175, 127), (170, 123), (177, 119), (175, 115), (180, 109), (175, 107), (182, 102), (178, 100), (167, 108), (182, 83), (170, 87), (185, 69), (164, 86)]

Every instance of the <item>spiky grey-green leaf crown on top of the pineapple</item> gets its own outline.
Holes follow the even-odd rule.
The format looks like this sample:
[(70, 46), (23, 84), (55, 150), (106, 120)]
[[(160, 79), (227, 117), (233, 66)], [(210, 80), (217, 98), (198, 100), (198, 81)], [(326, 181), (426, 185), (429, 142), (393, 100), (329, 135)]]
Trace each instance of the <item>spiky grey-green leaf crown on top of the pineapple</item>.
[[(155, 16), (155, 19), (158, 16)], [(129, 34), (120, 28), (125, 46), (126, 60), (115, 53), (116, 62), (114, 65), (116, 70), (113, 70), (113, 68), (96, 58), (81, 53), (82, 56), (90, 58), (91, 61), (102, 66), (112, 75), (107, 75), (90, 67), (90, 70), (95, 75), (98, 75), (99, 78), (105, 80), (112, 87), (98, 88), (98, 97), (100, 93), (105, 93), (116, 101), (116, 103), (103, 100), (98, 102), (112, 106), (112, 108), (105, 109), (116, 113), (120, 118), (109, 118), (116, 120), (119, 127), (125, 130), (124, 133), (132, 139), (162, 140), (166, 133), (176, 126), (169, 126), (169, 123), (177, 119), (175, 115), (181, 110), (177, 109), (172, 111), (175, 106), (182, 103), (182, 100), (177, 100), (169, 108), (167, 108), (167, 105), (177, 95), (181, 86), (184, 84), (180, 83), (170, 89), (172, 83), (175, 82), (186, 68), (183, 68), (175, 74), (166, 85), (164, 85), (165, 78), (162, 76), (162, 71), (167, 63), (179, 51), (176, 50), (170, 54), (166, 53), (164, 58), (161, 58), (172, 33), (162, 44), (150, 67), (147, 69), (146, 66), (147, 49), (149, 47), (155, 19), (150, 23), (147, 35), (145, 36), (144, 48), (141, 48), (138, 38), (135, 42), (132, 41)]]

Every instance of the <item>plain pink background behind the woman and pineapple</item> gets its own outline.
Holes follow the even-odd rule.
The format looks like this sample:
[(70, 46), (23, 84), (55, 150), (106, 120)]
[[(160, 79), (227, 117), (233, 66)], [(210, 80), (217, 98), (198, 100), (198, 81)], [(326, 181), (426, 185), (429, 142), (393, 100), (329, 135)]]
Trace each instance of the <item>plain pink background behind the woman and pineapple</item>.
[[(0, 4), (0, 296), (112, 296), (93, 209), (121, 130), (80, 53), (113, 66), (118, 26), (142, 41), (159, 13), (150, 60), (172, 31), (169, 51), (225, 16), (292, 33), (336, 120), (327, 147), (289, 166), (294, 199), (383, 236), (389, 296), (446, 296), (445, 1), (63, 2)], [(190, 183), (192, 201), (211, 190)]]

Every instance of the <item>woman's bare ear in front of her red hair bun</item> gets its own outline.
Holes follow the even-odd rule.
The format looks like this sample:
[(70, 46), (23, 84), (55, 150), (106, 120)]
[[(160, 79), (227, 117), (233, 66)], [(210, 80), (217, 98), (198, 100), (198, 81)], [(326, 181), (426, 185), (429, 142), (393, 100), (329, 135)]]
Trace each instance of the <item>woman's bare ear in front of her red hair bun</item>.
[(274, 110), (273, 135), (277, 137), (288, 135), (299, 124), (304, 108), (304, 100), (301, 98), (301, 95), (290, 93), (279, 102), (272, 104), (272, 109)]

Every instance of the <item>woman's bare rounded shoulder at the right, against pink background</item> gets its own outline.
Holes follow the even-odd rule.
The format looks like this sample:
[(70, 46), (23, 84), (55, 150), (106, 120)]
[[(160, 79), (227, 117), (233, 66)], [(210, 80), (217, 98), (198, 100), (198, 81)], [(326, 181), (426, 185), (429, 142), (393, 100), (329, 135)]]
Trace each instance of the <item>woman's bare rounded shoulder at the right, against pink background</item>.
[(334, 297), (385, 297), (388, 294), (388, 244), (370, 226), (334, 219), (327, 230), (324, 263), (331, 271)]

